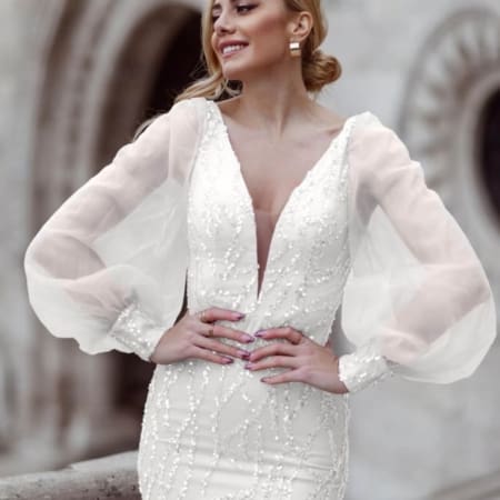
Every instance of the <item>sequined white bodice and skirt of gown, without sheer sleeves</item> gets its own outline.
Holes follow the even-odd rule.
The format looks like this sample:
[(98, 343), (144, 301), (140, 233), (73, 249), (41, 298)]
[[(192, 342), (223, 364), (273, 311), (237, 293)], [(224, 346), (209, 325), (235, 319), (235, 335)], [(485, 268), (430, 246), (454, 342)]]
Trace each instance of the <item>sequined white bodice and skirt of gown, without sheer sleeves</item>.
[[(222, 117), (207, 102), (188, 199), (190, 311), (233, 309), (246, 317), (220, 324), (248, 333), (291, 326), (327, 342), (350, 271), (346, 144), (354, 121), (348, 119), (289, 198), (257, 294), (251, 200)], [(256, 338), (244, 347), (267, 343)], [(243, 364), (189, 359), (156, 368), (138, 459), (143, 499), (343, 498), (348, 396), (306, 383), (266, 384), (262, 377), (282, 369), (250, 372)]]

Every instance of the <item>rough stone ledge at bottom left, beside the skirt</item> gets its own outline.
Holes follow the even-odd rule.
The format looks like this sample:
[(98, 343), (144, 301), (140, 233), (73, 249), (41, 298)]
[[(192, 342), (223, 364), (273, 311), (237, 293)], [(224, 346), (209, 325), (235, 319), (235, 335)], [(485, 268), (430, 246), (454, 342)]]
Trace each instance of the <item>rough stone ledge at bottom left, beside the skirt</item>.
[(137, 451), (52, 471), (0, 478), (0, 500), (140, 500)]

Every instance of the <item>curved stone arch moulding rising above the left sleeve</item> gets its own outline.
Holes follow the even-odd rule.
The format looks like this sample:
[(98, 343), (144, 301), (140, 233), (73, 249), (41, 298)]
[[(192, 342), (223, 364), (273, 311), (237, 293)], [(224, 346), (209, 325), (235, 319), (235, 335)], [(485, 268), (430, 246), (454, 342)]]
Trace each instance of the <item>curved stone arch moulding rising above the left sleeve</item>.
[(37, 226), (130, 138), (166, 47), (201, 3), (68, 0), (57, 12), (37, 118)]

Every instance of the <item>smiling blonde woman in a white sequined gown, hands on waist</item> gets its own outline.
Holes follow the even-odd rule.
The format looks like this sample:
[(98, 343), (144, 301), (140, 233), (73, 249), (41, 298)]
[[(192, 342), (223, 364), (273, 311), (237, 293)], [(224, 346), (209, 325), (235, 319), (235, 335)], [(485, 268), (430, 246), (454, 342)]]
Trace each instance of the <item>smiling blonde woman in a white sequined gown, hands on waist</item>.
[(311, 99), (340, 76), (320, 1), (208, 3), (210, 77), (43, 226), (30, 300), (83, 351), (157, 364), (143, 498), (341, 499), (347, 393), (471, 374), (491, 289), (398, 136)]

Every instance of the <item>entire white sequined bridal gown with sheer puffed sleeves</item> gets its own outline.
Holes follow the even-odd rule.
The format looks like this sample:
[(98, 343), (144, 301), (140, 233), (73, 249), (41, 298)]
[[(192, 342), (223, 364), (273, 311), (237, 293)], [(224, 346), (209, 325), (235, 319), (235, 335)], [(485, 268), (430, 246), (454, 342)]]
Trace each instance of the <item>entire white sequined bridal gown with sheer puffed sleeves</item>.
[[(289, 324), (324, 344), (341, 308), (350, 392), (386, 374), (468, 377), (496, 336), (477, 254), (369, 111), (347, 120), (290, 194), (259, 293), (252, 202), (222, 114), (202, 98), (156, 118), (67, 200), (30, 243), (26, 272), (51, 333), (144, 360), (181, 311), (186, 279), (191, 312), (246, 312), (236, 324), (249, 333)], [(266, 384), (283, 369), (243, 364), (156, 367), (138, 460), (144, 499), (343, 498), (348, 397)]]

